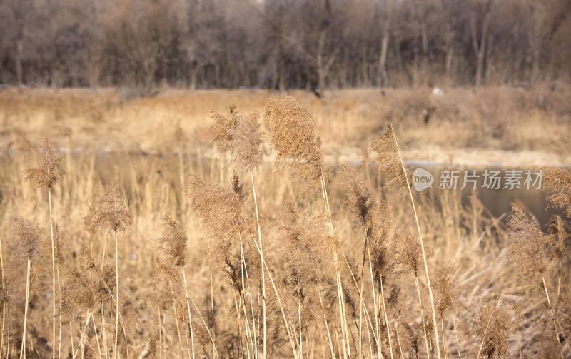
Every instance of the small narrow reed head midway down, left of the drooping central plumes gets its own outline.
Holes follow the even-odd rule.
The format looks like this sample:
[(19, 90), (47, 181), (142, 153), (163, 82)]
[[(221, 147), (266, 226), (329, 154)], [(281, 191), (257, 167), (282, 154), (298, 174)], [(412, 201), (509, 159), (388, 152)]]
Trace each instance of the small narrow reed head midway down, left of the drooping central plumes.
[(163, 234), (156, 238), (161, 252), (168, 258), (168, 263), (172, 266), (184, 266), (186, 259), (186, 229), (182, 224), (176, 223), (168, 216), (165, 216)]

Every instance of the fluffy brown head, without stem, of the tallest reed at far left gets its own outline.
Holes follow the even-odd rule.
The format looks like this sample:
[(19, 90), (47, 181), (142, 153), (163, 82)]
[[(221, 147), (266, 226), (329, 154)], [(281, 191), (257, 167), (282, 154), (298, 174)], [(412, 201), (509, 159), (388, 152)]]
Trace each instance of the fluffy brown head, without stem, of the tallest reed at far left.
[(52, 146), (49, 138), (44, 136), (41, 146), (28, 148), (28, 152), (36, 161), (37, 167), (24, 171), (26, 181), (33, 181), (38, 188), (53, 187), (65, 171), (61, 168), (61, 156), (54, 154), (54, 146)]

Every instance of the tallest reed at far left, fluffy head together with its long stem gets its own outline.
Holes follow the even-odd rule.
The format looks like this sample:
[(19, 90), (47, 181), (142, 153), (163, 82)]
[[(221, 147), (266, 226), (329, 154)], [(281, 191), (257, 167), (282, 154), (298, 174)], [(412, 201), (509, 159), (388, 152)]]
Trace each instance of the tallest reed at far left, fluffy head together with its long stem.
[[(51, 188), (57, 183), (65, 171), (61, 168), (61, 156), (54, 153), (49, 138), (44, 136), (39, 148), (29, 148), (36, 167), (24, 172), (26, 180), (30, 180), (37, 188), (47, 188), (49, 198), (49, 225), (51, 231), (51, 299), (52, 299), (52, 359), (56, 359), (56, 255), (54, 253), (54, 221), (51, 216)], [(61, 293), (60, 293), (61, 295)]]

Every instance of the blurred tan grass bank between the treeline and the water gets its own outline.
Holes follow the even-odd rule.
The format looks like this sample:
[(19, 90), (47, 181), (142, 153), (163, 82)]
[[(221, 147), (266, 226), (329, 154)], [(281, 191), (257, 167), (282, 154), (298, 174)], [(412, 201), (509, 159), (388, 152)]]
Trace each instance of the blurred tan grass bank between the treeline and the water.
[[(571, 88), (554, 85), (443, 89), (352, 89), (288, 92), (313, 112), (329, 161), (358, 161), (387, 121), (395, 123), (407, 161), (537, 166), (571, 163)], [(208, 111), (233, 102), (258, 111), (266, 90), (163, 89), (139, 97), (129, 89), (0, 90), (0, 150), (19, 150), (46, 133), (76, 150), (212, 153)], [(425, 124), (423, 110), (430, 114)], [(206, 152), (206, 153), (205, 153)], [(269, 155), (269, 153), (268, 153)]]

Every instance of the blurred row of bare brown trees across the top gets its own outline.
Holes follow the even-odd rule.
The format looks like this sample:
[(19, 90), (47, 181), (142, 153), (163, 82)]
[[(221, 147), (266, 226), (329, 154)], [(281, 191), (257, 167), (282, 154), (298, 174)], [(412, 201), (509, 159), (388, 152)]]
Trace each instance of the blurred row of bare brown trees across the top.
[(568, 81), (571, 0), (0, 0), (0, 83)]

